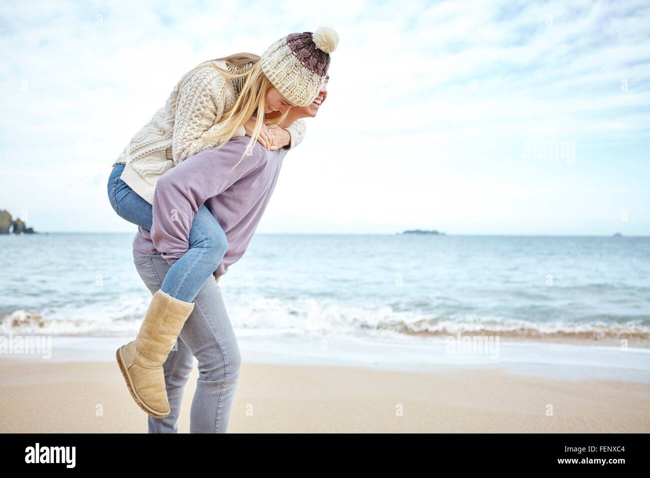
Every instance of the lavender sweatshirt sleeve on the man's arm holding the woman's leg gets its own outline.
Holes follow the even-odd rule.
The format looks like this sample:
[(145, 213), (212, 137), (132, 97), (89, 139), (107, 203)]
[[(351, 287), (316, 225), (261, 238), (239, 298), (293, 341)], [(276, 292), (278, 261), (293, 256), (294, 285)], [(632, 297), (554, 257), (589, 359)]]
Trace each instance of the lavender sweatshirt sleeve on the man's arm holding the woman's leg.
[(248, 140), (246, 137), (232, 139), (218, 150), (203, 150), (157, 181), (151, 241), (168, 264), (172, 265), (187, 252), (192, 220), (198, 208), (268, 159), (266, 148), (259, 142), (255, 142), (250, 156), (242, 158)]

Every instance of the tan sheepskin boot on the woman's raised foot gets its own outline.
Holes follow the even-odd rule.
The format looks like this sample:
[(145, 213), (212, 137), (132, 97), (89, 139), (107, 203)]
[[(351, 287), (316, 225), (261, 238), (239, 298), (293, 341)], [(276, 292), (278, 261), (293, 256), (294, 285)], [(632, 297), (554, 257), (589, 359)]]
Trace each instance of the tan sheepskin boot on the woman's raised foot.
[(192, 310), (194, 303), (156, 291), (137, 338), (116, 352), (131, 396), (142, 410), (155, 418), (170, 414), (162, 364)]

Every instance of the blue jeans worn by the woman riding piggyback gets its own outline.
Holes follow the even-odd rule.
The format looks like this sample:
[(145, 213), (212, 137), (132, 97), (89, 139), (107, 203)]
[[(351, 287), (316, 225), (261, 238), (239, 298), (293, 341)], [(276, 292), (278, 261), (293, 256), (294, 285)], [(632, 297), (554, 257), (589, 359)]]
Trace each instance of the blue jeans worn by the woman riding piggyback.
[[(120, 179), (124, 166), (115, 165), (110, 173), (110, 205), (118, 216), (150, 231), (153, 223), (151, 204)], [(214, 281), (214, 271), (226, 255), (227, 246), (226, 233), (203, 204), (192, 221), (189, 249), (170, 267), (161, 290), (175, 299), (192, 302), (206, 280)]]

